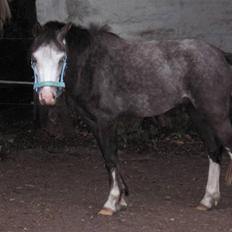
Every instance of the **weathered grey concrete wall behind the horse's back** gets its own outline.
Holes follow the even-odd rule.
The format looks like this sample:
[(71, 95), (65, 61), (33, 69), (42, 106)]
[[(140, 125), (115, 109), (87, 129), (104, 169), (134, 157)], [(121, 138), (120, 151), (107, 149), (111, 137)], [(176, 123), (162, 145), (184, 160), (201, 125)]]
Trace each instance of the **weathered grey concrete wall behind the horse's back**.
[(108, 23), (123, 37), (195, 37), (232, 51), (231, 0), (37, 0), (38, 20)]

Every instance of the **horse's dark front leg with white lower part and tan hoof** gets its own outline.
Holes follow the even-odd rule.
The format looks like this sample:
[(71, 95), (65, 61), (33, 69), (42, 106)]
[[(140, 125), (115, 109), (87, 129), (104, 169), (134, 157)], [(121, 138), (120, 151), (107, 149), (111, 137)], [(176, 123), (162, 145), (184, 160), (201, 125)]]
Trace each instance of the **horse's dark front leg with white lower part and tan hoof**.
[(114, 124), (111, 122), (98, 123), (95, 136), (105, 160), (110, 182), (108, 198), (99, 214), (111, 216), (127, 207), (125, 195), (128, 194), (127, 186), (118, 168), (116, 129)]

